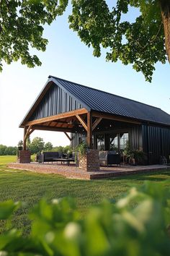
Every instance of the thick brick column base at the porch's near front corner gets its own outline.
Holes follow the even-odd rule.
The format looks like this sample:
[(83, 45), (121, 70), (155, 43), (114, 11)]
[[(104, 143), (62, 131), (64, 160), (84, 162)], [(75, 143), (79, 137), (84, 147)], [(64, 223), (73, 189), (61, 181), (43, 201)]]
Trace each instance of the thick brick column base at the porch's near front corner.
[(99, 171), (99, 150), (89, 149), (84, 155), (79, 155), (79, 168)]

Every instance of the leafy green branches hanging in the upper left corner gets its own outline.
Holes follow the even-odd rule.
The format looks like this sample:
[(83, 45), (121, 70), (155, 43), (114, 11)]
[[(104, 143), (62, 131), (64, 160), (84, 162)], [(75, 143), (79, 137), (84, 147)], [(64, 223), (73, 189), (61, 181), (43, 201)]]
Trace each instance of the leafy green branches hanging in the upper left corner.
[(28, 67), (41, 62), (30, 55), (30, 47), (45, 51), (48, 40), (42, 38), (43, 27), (63, 14), (68, 0), (0, 0), (0, 69), (1, 61), (10, 64), (21, 60)]

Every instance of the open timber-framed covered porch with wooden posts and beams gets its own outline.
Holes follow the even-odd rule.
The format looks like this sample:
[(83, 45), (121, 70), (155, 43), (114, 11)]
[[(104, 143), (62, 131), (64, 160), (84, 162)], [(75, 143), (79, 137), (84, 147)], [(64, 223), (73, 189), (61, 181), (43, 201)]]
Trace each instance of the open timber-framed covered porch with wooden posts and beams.
[[(110, 150), (120, 155), (130, 139), (131, 144), (135, 142), (135, 145), (133, 145), (135, 148), (138, 147), (140, 150), (142, 148), (142, 135), (139, 136), (139, 132), (138, 142), (137, 139), (134, 140), (136, 135), (134, 129), (138, 128), (141, 131), (139, 121), (97, 111), (88, 111), (86, 108), (29, 120), (22, 124), (22, 127), (24, 127), (24, 158), (27, 158), (25, 156), (27, 155), (27, 137), (35, 130), (64, 132), (70, 140), (72, 148), (76, 148), (76, 145), (81, 142), (86, 142), (88, 150), (91, 150), (90, 153), (87, 153), (89, 158), (86, 163), (88, 162), (88, 166), (92, 167), (88, 167), (87, 171), (99, 170), (98, 151)], [(94, 150), (97, 152), (95, 153)], [(125, 163), (124, 158), (121, 161)], [(29, 162), (29, 160), (25, 162)], [(20, 163), (24, 163), (24, 161), (20, 161)]]

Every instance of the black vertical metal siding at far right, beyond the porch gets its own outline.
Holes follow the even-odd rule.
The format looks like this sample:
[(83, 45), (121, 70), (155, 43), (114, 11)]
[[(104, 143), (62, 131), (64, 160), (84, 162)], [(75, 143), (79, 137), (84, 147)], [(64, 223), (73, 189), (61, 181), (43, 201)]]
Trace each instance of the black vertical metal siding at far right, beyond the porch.
[(170, 129), (143, 125), (143, 151), (148, 155), (148, 164), (160, 163), (160, 156), (169, 159)]

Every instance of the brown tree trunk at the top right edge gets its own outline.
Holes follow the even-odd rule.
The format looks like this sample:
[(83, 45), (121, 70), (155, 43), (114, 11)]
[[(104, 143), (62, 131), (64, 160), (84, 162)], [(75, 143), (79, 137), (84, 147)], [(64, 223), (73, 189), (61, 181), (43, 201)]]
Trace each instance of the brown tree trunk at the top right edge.
[(170, 62), (170, 0), (159, 0), (161, 4), (161, 16), (164, 24), (165, 47)]

